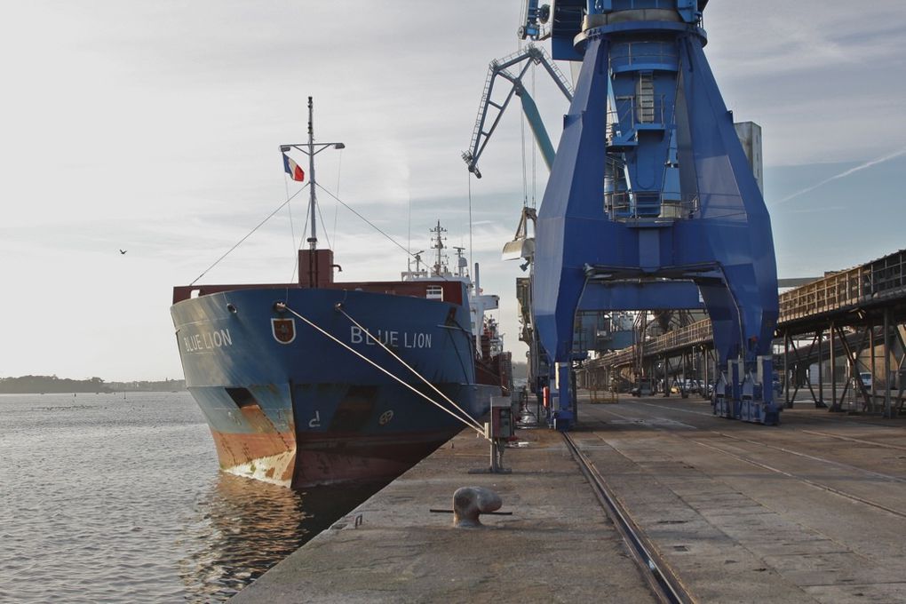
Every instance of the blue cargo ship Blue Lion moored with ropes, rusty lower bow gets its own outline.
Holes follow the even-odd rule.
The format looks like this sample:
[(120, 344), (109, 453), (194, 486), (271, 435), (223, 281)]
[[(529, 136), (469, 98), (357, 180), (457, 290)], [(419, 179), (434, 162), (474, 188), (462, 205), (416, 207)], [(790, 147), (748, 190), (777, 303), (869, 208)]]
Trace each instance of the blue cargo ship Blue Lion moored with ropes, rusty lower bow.
[[(477, 430), (491, 396), (511, 388), (508, 353), (458, 248), (448, 270), (438, 223), (436, 261), (395, 281), (338, 282), (333, 251), (317, 247), (313, 142), (311, 235), (298, 281), (177, 286), (170, 309), (186, 385), (222, 470), (275, 484), (390, 480), (464, 427)], [(477, 264), (476, 264), (477, 272)]]

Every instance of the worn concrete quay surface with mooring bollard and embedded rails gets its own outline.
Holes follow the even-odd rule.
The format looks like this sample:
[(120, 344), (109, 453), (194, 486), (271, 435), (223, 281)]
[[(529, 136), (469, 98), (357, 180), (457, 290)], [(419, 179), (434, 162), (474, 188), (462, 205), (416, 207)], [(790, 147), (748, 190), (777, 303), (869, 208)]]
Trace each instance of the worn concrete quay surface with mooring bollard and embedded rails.
[[(700, 602), (906, 601), (906, 420), (805, 404), (779, 427), (700, 398), (581, 403), (573, 441)], [(464, 431), (236, 595), (236, 602), (651, 602), (628, 547), (546, 428), (508, 475)], [(503, 498), (454, 529), (452, 495)]]

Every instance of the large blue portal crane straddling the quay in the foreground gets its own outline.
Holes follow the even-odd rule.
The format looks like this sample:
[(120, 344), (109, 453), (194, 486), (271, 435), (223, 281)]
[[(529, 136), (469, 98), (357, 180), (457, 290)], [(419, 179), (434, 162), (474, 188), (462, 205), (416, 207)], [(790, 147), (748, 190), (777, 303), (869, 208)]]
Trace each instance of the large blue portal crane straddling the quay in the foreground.
[(538, 212), (535, 326), (554, 426), (573, 421), (573, 319), (586, 308), (707, 309), (715, 413), (776, 424), (770, 217), (703, 48), (707, 0), (528, 2), (554, 59), (581, 62)]

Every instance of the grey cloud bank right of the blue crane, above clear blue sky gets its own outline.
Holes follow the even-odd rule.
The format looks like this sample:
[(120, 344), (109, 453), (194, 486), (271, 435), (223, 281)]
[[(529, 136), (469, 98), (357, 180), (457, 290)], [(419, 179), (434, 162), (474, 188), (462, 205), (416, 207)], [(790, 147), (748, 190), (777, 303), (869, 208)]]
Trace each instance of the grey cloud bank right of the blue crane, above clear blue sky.
[(706, 54), (737, 120), (764, 129), (767, 166), (859, 161), (906, 141), (906, 11), (819, 0), (710, 3)]

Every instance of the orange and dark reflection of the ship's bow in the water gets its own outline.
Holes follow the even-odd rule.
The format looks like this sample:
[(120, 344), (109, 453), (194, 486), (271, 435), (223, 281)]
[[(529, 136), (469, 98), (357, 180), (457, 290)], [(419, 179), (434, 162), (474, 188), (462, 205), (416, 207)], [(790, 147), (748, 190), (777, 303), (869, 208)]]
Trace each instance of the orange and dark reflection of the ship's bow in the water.
[(219, 473), (200, 494), (178, 549), (189, 601), (226, 600), (308, 542), (383, 484), (296, 492)]

